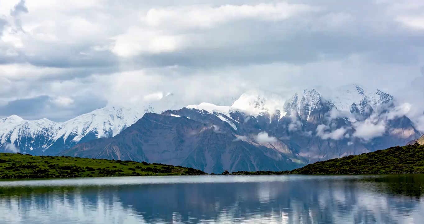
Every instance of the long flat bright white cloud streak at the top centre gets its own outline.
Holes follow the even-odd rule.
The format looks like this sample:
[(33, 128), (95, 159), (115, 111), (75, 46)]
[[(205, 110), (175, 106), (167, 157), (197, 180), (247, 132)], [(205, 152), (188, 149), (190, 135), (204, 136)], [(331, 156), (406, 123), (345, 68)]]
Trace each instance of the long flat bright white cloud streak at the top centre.
[(145, 22), (155, 27), (211, 28), (214, 25), (231, 20), (258, 19), (269, 21), (286, 20), (307, 12), (320, 11), (318, 7), (305, 4), (259, 3), (257, 5), (211, 5), (172, 6), (151, 8)]

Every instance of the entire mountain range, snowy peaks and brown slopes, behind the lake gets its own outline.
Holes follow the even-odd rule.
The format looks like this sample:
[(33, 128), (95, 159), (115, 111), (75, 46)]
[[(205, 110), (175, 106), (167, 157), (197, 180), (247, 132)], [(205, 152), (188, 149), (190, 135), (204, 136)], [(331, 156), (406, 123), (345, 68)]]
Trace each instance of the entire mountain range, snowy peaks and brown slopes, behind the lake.
[(393, 96), (357, 85), (290, 95), (249, 91), (234, 99), (187, 106), (167, 94), (141, 111), (106, 107), (64, 123), (11, 116), (0, 120), (0, 151), (158, 162), (207, 173), (280, 171), (421, 136)]

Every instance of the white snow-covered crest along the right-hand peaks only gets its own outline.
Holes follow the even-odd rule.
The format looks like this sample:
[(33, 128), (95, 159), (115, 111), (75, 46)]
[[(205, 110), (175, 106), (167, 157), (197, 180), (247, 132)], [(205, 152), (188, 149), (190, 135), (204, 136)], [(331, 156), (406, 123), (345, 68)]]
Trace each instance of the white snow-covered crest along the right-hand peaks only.
[(352, 105), (359, 107), (358, 110), (361, 112), (364, 112), (367, 106), (371, 106), (374, 111), (377, 111), (379, 106), (390, 103), (392, 100), (393, 96), (380, 90), (365, 91), (357, 85), (347, 85), (337, 90), (303, 90), (285, 96), (273, 92), (252, 90), (243, 93), (231, 106), (201, 103), (186, 107), (223, 114), (228, 117), (231, 117), (230, 112), (234, 111), (254, 117), (264, 114), (272, 116), (279, 111), (280, 118), (289, 112), (297, 112), (302, 119), (308, 120), (312, 112), (319, 111), (323, 106), (335, 107), (340, 111), (348, 112)]

